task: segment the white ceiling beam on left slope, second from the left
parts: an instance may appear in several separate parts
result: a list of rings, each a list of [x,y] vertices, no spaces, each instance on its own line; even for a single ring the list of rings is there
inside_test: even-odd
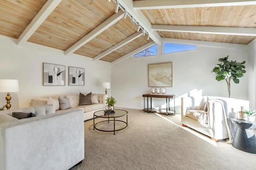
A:
[[[123,17],[124,12],[122,10],[119,10],[118,13],[115,13],[110,18],[108,18],[106,21],[101,23],[98,27],[93,29],[90,33],[85,35],[82,39],[77,41],[74,45],[69,47],[65,51],[65,55],[68,55],[70,53],[73,53],[74,51],[78,50],[80,47],[91,41],[94,37],[111,27],[114,23],[119,21]]]

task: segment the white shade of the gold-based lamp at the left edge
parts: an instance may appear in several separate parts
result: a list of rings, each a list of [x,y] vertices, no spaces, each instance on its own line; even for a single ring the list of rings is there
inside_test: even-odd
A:
[[[0,92],[19,92],[18,80],[0,80]]]

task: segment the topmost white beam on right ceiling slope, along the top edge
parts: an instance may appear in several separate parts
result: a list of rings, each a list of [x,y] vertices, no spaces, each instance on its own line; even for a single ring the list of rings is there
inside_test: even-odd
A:
[[[255,0],[142,0],[134,1],[135,10],[255,5]]]

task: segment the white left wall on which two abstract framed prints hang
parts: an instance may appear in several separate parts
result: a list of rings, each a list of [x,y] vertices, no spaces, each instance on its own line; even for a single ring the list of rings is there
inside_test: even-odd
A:
[[[20,92],[11,93],[11,109],[29,106],[32,98],[79,92],[105,93],[102,82],[110,82],[110,63],[92,62],[81,55],[64,55],[64,51],[25,43],[0,36],[0,79],[18,79]],[[66,86],[43,86],[43,63],[66,66]],[[68,66],[85,68],[85,86],[68,86]],[[108,90],[108,94],[111,89]],[[0,93],[0,107],[6,104],[6,93]]]

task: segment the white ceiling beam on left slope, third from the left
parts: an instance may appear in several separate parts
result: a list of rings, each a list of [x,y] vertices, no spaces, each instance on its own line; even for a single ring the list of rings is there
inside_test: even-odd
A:
[[[131,35],[130,37],[120,41],[119,43],[117,43],[116,45],[114,45],[113,47],[107,49],[106,51],[104,51],[103,53],[100,53],[99,55],[97,55],[96,57],[94,57],[92,59],[92,61],[95,61],[95,60],[99,60],[101,59],[102,57],[105,57],[106,55],[112,53],[113,51],[115,51],[116,49],[126,45],[127,43],[130,43],[132,40],[140,37],[142,35],[142,31],[140,30],[139,32],[136,32],[134,33],[133,35]]]

